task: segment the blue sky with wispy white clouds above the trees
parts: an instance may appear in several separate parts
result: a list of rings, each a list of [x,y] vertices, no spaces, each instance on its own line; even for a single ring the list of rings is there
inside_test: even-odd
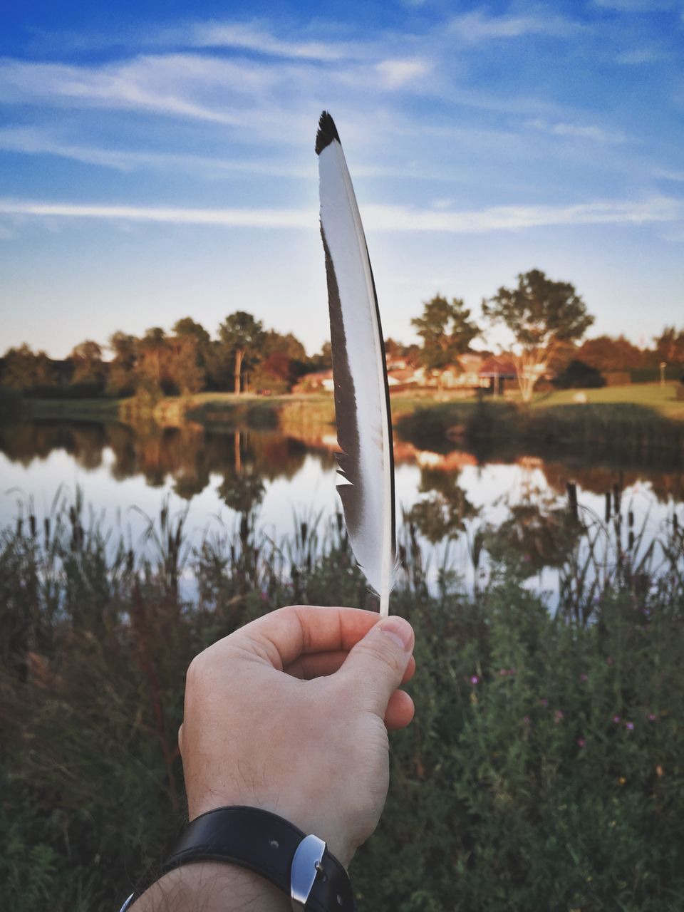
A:
[[[2,351],[238,309],[320,348],[322,109],[386,336],[532,268],[590,335],[684,326],[684,0],[0,0],[0,22]]]

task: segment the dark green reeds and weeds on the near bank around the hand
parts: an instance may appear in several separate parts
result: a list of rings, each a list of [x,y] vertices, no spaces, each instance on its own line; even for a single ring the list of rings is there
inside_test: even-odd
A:
[[[162,512],[143,560],[87,516],[66,504],[0,536],[0,881],[16,912],[109,912],[169,850],[198,650],[287,603],[373,604],[335,526],[274,545],[245,518],[191,553]],[[670,545],[670,574],[623,567],[581,625],[505,556],[477,596],[444,577],[430,597],[407,549],[393,609],[416,629],[416,720],[392,736],[386,812],[351,867],[360,909],[682,906],[679,530]]]

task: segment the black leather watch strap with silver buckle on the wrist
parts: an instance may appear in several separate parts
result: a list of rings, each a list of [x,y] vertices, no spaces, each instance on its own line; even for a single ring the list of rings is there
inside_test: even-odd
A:
[[[223,861],[254,871],[290,896],[292,862],[306,836],[277,814],[234,805],[200,814],[187,825],[161,873],[198,861]],[[353,912],[354,894],[335,855],[323,854],[306,902],[311,912]]]

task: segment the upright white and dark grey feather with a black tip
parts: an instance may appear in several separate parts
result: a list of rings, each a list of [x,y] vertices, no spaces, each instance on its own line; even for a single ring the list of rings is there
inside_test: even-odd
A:
[[[337,418],[337,484],[358,565],[389,613],[396,575],[394,456],[378,297],[335,122],[316,135]]]

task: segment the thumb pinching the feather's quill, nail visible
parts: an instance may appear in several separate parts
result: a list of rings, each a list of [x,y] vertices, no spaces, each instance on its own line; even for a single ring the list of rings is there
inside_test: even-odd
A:
[[[413,629],[403,617],[384,617],[352,648],[338,674],[382,719],[413,651]]]

